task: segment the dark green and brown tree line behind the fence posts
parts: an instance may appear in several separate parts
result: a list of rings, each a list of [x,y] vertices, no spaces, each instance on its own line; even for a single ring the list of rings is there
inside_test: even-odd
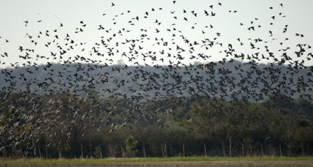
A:
[[[310,156],[312,104],[273,94],[249,102],[205,95],[134,102],[0,94],[1,157]]]

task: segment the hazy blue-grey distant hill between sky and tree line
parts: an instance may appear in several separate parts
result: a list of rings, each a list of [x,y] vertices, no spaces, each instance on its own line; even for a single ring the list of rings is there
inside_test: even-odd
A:
[[[312,67],[265,65],[239,61],[168,66],[50,64],[2,69],[4,92],[42,94],[63,90],[81,95],[95,90],[99,98],[136,97],[141,100],[195,93],[230,99],[246,96],[266,100],[271,93],[292,98],[312,95]]]

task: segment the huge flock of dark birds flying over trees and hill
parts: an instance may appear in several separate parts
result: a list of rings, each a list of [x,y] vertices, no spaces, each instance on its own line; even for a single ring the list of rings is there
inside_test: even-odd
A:
[[[172,3],[179,5],[172,1],[170,6]],[[114,7],[116,13],[118,5]],[[142,12],[136,15],[130,13],[134,9],[131,7],[121,14],[96,13],[112,21],[108,24],[97,21],[99,24],[95,25],[99,26],[90,29],[83,21],[77,22],[81,26],[73,26],[73,31],[65,29],[71,26],[65,21],[62,22],[66,27],[62,29],[58,24],[46,31],[34,27],[34,31],[27,31],[26,38],[20,37],[31,43],[17,45],[15,49],[21,53],[17,58],[1,50],[1,62],[6,58],[11,60],[7,63],[9,67],[1,68],[0,72],[0,110],[8,113],[5,118],[0,117],[1,121],[5,120],[1,122],[0,135],[6,141],[2,144],[0,139],[0,148],[15,145],[16,152],[31,156],[42,145],[52,147],[49,142],[61,145],[75,138],[84,141],[92,138],[93,133],[101,132],[101,135],[109,131],[108,135],[113,135],[125,127],[127,129],[121,132],[136,134],[137,128],[148,125],[160,127],[160,130],[182,128],[186,136],[199,131],[211,133],[214,128],[223,129],[225,134],[233,128],[252,132],[271,122],[266,118],[280,121],[280,114],[287,116],[293,110],[298,112],[310,107],[313,68],[306,63],[313,58],[309,53],[312,45],[299,42],[294,46],[296,50],[292,50],[293,47],[284,42],[289,40],[288,34],[295,34],[298,38],[293,40],[301,41],[304,33],[289,33],[289,30],[284,33],[286,37],[280,38],[279,31],[259,23],[264,17],[256,18],[251,13],[252,21],[248,21],[251,25],[246,27],[246,21],[244,24],[235,21],[229,32],[233,36],[228,37],[222,31],[212,31],[220,26],[210,23],[213,16],[220,19],[220,10],[213,11],[213,5],[204,12],[175,9],[183,10],[180,16],[170,10],[172,8],[168,8],[168,13],[161,5],[152,6],[151,12],[151,7],[138,8]],[[214,6],[215,10],[226,5],[218,2]],[[270,9],[280,12],[275,6]],[[237,13],[233,9],[226,11],[230,11],[227,15]],[[163,21],[161,15],[170,16],[169,20]],[[122,26],[121,17],[131,18],[126,21],[128,26]],[[273,23],[277,21],[275,15],[271,18]],[[195,19],[202,20],[203,24]],[[42,23],[45,21],[42,19]],[[32,22],[24,22],[29,26],[23,29],[31,27]],[[252,26],[256,23],[259,26]],[[283,24],[280,32],[286,32],[287,25]],[[62,26],[61,23],[59,27]],[[243,38],[233,28],[243,32],[248,28],[251,36]],[[87,41],[80,38],[88,33],[95,36]],[[273,46],[280,44],[278,49],[267,44],[270,41],[266,35],[271,37]],[[33,38],[36,36],[37,40]],[[222,38],[227,38],[227,45]],[[6,44],[8,40],[2,40],[3,45],[14,43],[12,40]],[[250,47],[243,49],[247,42]],[[48,54],[44,54],[46,52]],[[278,99],[284,102],[284,108],[274,108],[272,102]],[[296,100],[304,101],[298,104]],[[168,124],[170,122],[172,125]],[[179,126],[173,126],[177,122]],[[216,122],[220,124],[213,127]],[[75,129],[77,133],[73,132]],[[162,136],[165,134],[162,132]],[[37,145],[34,146],[32,139]],[[49,144],[44,144],[47,141]]]

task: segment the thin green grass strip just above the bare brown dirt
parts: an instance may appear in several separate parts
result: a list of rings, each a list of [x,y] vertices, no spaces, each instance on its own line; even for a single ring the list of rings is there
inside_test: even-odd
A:
[[[0,164],[97,164],[166,161],[313,161],[313,157],[170,157],[125,159],[0,159]]]

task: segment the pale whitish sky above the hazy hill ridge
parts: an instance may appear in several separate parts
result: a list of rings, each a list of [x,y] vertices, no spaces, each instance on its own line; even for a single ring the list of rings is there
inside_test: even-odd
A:
[[[1,68],[68,61],[175,65],[237,60],[234,54],[273,63],[283,53],[292,58],[287,63],[313,64],[307,56],[313,1],[13,0],[1,6]]]

